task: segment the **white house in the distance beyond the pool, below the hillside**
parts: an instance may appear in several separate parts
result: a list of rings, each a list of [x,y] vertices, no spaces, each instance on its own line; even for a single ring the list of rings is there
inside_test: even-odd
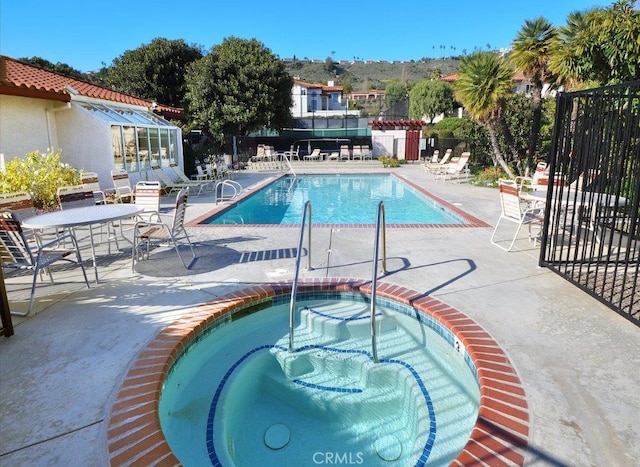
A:
[[[347,103],[343,102],[342,90],[343,87],[336,86],[333,81],[324,85],[294,79],[291,89],[293,101],[291,116],[293,118],[359,116],[358,110],[348,110]]]

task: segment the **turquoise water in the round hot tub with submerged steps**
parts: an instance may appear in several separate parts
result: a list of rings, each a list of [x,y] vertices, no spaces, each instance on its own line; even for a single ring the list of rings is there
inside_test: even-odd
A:
[[[479,389],[448,331],[381,299],[374,364],[366,297],[297,304],[294,352],[282,303],[211,329],[172,367],[160,419],[184,465],[456,458],[476,422]]]

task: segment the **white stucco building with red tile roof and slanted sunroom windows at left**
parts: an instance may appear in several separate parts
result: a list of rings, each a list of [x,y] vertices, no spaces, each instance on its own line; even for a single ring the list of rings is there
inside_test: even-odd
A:
[[[183,167],[182,132],[169,119],[180,108],[96,86],[29,63],[0,56],[0,154],[5,160],[48,148],[86,172],[104,189],[111,170],[133,182],[153,165]]]

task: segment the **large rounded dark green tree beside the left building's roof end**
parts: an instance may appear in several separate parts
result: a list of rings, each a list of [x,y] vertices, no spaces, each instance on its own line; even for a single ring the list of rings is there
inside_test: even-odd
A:
[[[293,79],[256,39],[224,39],[189,67],[186,81],[191,124],[218,141],[290,122]]]

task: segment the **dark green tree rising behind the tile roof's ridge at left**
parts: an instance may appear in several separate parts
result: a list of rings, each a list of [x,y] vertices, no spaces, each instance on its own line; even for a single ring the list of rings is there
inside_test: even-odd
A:
[[[104,76],[118,91],[162,104],[182,107],[185,70],[202,58],[202,50],[182,39],[156,38],[117,57]]]

